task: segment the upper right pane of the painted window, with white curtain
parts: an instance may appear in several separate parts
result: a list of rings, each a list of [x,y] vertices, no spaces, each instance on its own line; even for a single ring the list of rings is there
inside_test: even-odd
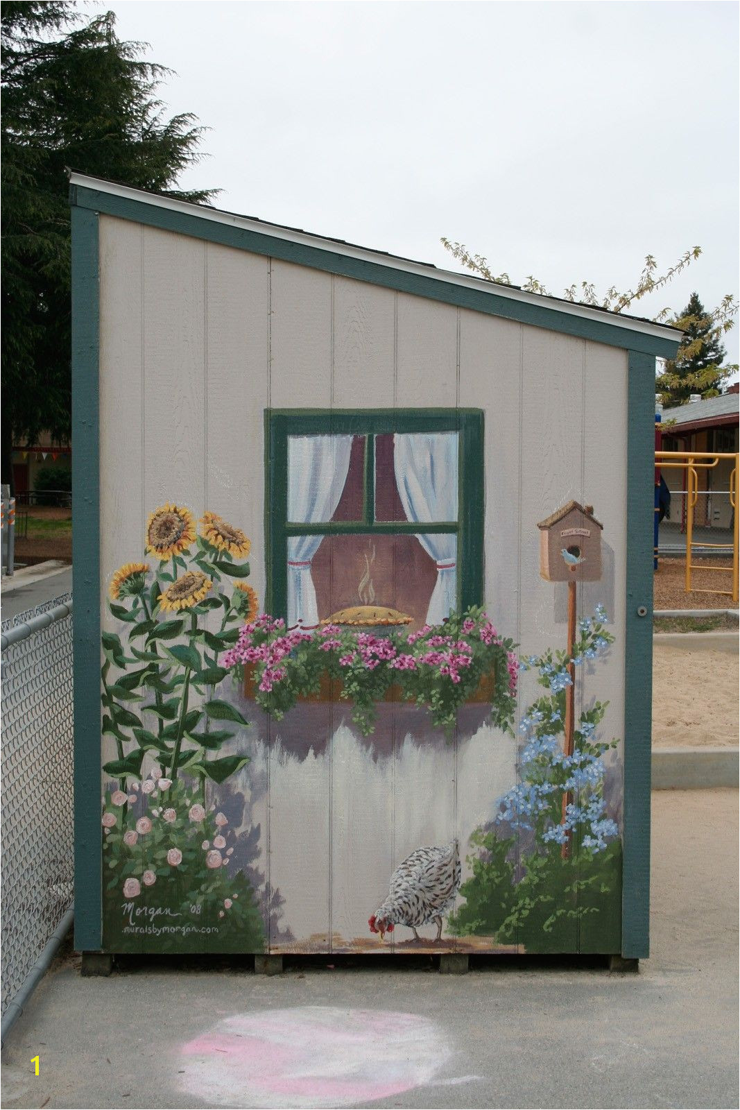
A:
[[[375,518],[457,519],[457,432],[375,437]]]

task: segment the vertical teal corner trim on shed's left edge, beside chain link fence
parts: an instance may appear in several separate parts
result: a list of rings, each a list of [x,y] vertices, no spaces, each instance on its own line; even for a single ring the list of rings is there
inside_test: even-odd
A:
[[[102,944],[98,215],[72,209],[74,947]]]

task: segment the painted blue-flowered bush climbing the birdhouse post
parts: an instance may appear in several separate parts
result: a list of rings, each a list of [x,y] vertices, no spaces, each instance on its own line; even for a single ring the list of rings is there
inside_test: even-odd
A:
[[[455,935],[494,936],[538,951],[618,950],[621,845],[604,798],[605,757],[618,741],[598,736],[608,703],[580,713],[572,751],[564,750],[569,666],[606,655],[614,643],[606,620],[598,606],[579,623],[572,655],[547,650],[520,662],[547,693],[519,723],[520,781],[470,837],[465,901],[449,918]]]

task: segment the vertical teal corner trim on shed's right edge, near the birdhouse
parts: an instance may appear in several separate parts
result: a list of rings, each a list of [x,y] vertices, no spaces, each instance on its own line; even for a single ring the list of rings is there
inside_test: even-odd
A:
[[[642,959],[649,955],[650,916],[655,359],[630,352],[628,375],[621,953]]]

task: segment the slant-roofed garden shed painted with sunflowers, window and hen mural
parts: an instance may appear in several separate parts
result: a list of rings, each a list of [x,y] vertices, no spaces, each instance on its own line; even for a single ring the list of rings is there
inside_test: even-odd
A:
[[[646,956],[679,333],[71,204],[77,947]]]

